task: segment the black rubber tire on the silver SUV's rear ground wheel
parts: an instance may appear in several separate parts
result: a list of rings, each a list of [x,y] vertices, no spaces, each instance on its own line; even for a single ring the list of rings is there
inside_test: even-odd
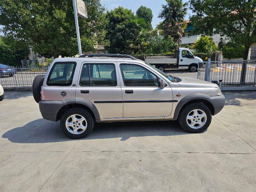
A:
[[[73,118],[71,118],[71,116],[73,115],[77,115],[76,118],[80,117],[84,117],[84,119],[86,121],[83,121],[83,123],[81,123],[82,125],[87,125],[85,130],[79,129],[79,125],[77,121],[75,121]],[[79,118],[80,119],[80,118]],[[76,120],[79,120],[76,119]],[[74,125],[74,127],[78,127],[77,129],[77,134],[72,133],[74,131],[73,127],[70,126],[68,128],[66,128],[66,121],[71,120],[70,124]],[[75,124],[75,123],[77,124]],[[94,127],[94,119],[92,118],[92,115],[90,113],[88,113],[85,109],[82,108],[71,108],[69,110],[67,110],[61,117],[60,119],[60,128],[62,130],[62,132],[68,136],[69,138],[72,139],[82,139],[84,137],[86,137],[88,134],[90,134],[90,132],[92,132],[92,129]],[[68,130],[69,129],[69,130]],[[79,132],[81,132],[79,134]]]

